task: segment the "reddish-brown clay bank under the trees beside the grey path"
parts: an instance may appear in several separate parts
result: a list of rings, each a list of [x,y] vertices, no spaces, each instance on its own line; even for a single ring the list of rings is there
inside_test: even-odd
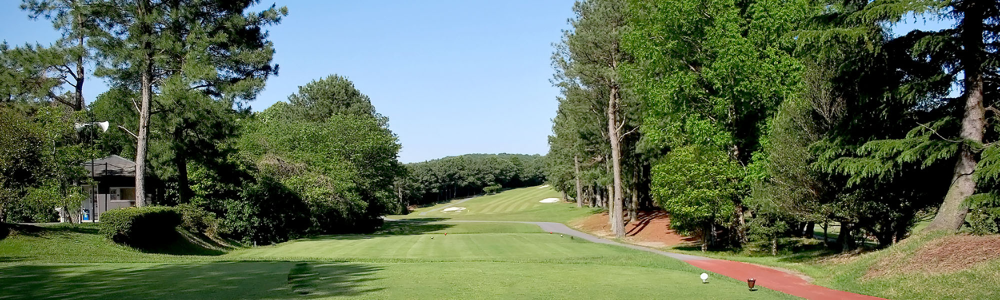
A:
[[[628,214],[625,215],[628,218]],[[610,237],[611,224],[608,213],[594,214],[573,223],[573,227],[594,235]],[[671,247],[696,242],[696,238],[683,236],[670,229],[670,215],[663,211],[641,211],[639,221],[625,226],[625,240],[647,247]]]

